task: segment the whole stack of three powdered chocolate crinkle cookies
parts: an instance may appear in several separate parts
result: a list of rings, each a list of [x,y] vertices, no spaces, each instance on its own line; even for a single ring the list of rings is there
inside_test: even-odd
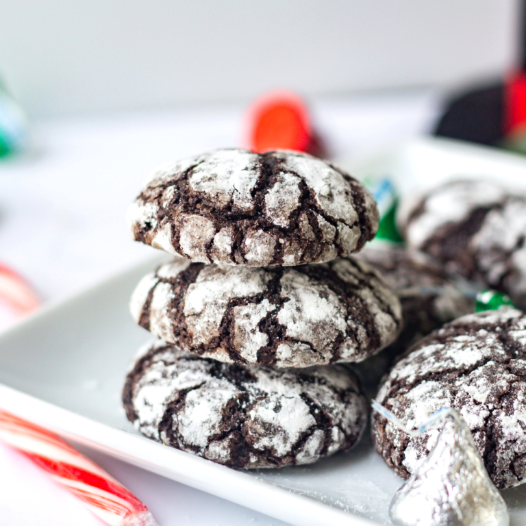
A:
[[[130,421],[238,468],[308,464],[358,441],[350,368],[395,340],[401,307],[366,262],[378,212],[355,179],[291,151],[206,153],[153,175],[134,238],[176,256],[132,297],[159,339],[127,377]]]

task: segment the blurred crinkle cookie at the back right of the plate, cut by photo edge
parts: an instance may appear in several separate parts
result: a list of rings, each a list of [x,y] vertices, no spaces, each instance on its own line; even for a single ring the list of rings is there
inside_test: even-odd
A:
[[[408,245],[526,308],[526,197],[486,180],[451,181],[403,205]]]

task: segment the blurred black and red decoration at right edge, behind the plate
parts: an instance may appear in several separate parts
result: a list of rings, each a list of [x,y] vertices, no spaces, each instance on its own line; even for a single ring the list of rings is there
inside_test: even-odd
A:
[[[521,16],[521,68],[499,82],[474,86],[453,97],[435,135],[516,150],[522,149],[514,147],[517,141],[526,144],[526,0]]]

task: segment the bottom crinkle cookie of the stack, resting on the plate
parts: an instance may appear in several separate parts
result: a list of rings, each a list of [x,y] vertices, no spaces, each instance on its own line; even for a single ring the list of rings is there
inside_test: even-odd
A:
[[[310,464],[349,449],[367,420],[347,367],[223,364],[161,340],[128,374],[123,403],[142,434],[244,469]]]

